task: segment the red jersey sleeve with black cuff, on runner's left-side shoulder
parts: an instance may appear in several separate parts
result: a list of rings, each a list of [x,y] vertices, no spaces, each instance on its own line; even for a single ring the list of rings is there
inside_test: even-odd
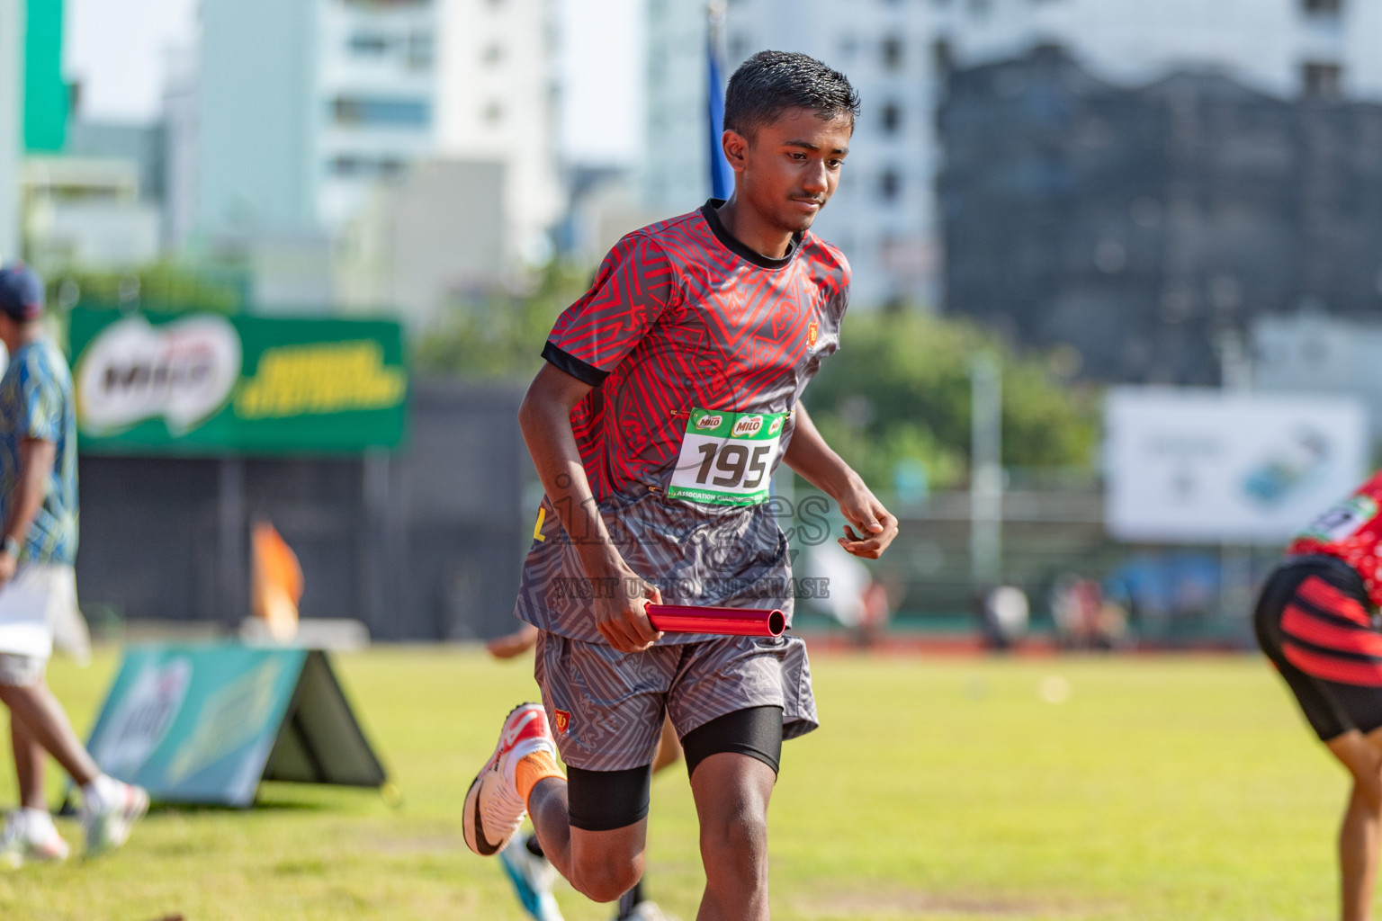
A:
[[[626,236],[609,250],[590,290],[557,318],[542,356],[600,387],[674,295],[676,272],[662,247],[641,233]]]

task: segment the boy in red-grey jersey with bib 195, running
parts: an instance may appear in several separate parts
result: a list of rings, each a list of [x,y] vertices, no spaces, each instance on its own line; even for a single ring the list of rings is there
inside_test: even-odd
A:
[[[662,637],[644,606],[668,595],[791,612],[788,543],[764,504],[779,460],[839,503],[850,552],[876,558],[897,534],[800,405],[849,301],[849,264],[808,229],[857,112],[849,80],[821,62],[749,58],[726,94],[731,199],[626,236],[557,320],[520,411],[546,498],[517,613],[542,631],[546,710],[509,715],[466,795],[477,853],[528,812],[578,891],[619,898],[643,874],[666,711],[701,823],[698,918],[768,917],[781,744],[817,725],[804,645]]]

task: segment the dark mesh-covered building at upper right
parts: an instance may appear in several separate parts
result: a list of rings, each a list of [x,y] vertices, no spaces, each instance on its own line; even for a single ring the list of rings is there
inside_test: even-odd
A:
[[[1255,316],[1382,305],[1382,106],[1038,48],[955,70],[940,126],[945,309],[1086,376],[1215,384]]]

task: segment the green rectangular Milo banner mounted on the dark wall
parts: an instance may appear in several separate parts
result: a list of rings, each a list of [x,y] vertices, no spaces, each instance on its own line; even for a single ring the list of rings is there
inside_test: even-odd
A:
[[[83,450],[347,453],[404,438],[390,320],[76,308],[69,336]]]

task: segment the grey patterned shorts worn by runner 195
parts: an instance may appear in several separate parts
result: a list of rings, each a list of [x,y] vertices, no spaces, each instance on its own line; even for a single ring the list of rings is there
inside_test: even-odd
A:
[[[782,737],[820,724],[800,637],[721,637],[623,653],[543,631],[536,678],[561,759],[585,770],[652,762],[663,711],[677,736],[748,707],[782,707]]]

